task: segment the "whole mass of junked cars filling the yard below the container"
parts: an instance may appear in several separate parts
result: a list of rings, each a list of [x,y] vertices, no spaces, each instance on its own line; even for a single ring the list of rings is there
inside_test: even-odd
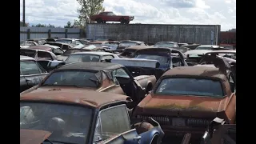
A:
[[[234,129],[235,50],[198,46],[210,50],[188,64],[180,47],[114,50],[94,44],[100,42],[67,50],[45,43],[20,48],[22,138],[36,133],[53,143],[161,143],[182,136],[186,144],[221,142],[216,130]],[[210,129],[216,123],[221,128]]]

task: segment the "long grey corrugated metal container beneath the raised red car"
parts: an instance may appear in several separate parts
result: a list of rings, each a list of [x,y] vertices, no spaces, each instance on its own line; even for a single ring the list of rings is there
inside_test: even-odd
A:
[[[86,38],[218,44],[220,25],[87,24]]]

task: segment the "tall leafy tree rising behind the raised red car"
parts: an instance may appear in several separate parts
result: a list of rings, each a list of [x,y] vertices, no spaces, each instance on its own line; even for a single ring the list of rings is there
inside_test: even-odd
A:
[[[79,22],[84,25],[84,23],[90,23],[90,16],[98,14],[104,11],[103,2],[104,0],[77,0],[81,8],[78,8]]]

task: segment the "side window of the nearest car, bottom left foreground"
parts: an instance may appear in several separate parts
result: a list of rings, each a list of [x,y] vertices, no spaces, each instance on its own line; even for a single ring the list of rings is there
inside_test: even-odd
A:
[[[126,110],[126,105],[113,106],[102,110],[99,114],[98,126],[96,126],[94,139],[113,137],[114,135],[130,130],[130,118]],[[98,129],[99,125],[102,128]],[[98,137],[96,137],[97,133]]]

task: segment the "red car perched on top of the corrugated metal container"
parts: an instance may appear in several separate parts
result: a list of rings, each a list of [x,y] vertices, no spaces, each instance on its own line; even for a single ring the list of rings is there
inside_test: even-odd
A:
[[[121,24],[129,24],[130,21],[134,20],[134,16],[115,15],[112,11],[104,11],[90,16],[90,20],[96,21],[97,23],[121,22]]]

